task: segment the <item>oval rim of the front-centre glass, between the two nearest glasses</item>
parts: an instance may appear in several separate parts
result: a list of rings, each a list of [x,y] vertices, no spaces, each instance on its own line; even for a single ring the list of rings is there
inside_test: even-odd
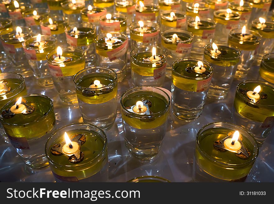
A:
[[[162,91],[163,93],[166,94],[166,96],[168,97],[168,104],[167,104],[167,106],[165,107],[165,109],[163,109],[163,110],[160,111],[160,112],[153,113],[153,114],[150,114],[150,115],[140,115],[140,114],[137,114],[137,113],[134,113],[134,112],[130,112],[130,111],[128,111],[128,110],[125,108],[125,106],[124,106],[124,104],[123,104],[123,102],[122,102],[122,98],[124,97],[124,95],[125,95],[126,93],[132,91],[133,89],[144,88],[144,87],[147,87],[147,88],[156,88],[156,89],[158,89],[158,90],[160,90],[160,91]],[[141,91],[141,90],[140,90],[140,91]],[[151,91],[151,92],[153,92],[153,91]],[[126,90],[126,91],[121,95],[121,97],[120,97],[120,105],[122,106],[122,109],[123,109],[125,112],[127,112],[128,114],[134,115],[136,118],[143,118],[143,119],[145,119],[145,118],[151,117],[151,116],[158,116],[158,115],[161,116],[161,115],[163,115],[164,113],[166,113],[166,112],[168,111],[169,107],[170,107],[170,100],[171,100],[171,98],[169,97],[168,93],[166,93],[164,90],[162,90],[162,89],[160,89],[160,88],[158,88],[158,87],[152,87],[152,86],[137,86],[137,87],[130,88],[130,89]]]

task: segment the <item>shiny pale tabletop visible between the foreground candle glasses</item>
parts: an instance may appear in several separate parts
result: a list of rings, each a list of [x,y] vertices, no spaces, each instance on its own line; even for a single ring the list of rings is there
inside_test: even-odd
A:
[[[252,67],[247,79],[257,79],[258,67]],[[126,182],[132,178],[156,175],[172,182],[191,182],[195,138],[198,130],[211,122],[230,122],[236,85],[243,80],[234,80],[228,96],[223,100],[207,98],[201,116],[192,122],[182,122],[170,111],[168,129],[161,150],[151,161],[140,161],[132,157],[125,147],[123,127],[118,101],[114,126],[106,131],[109,154],[109,181]],[[66,105],[59,99],[54,86],[43,88],[35,83],[34,77],[26,78],[28,93],[49,96],[54,103],[57,127],[82,122],[78,104]],[[118,99],[132,87],[130,71],[118,85]],[[164,88],[170,90],[171,80],[166,78]],[[238,124],[240,125],[240,124]],[[246,182],[274,182],[274,137],[273,132],[260,148],[258,158]],[[0,181],[1,182],[54,182],[50,168],[31,171],[26,168],[15,149],[0,140]]]

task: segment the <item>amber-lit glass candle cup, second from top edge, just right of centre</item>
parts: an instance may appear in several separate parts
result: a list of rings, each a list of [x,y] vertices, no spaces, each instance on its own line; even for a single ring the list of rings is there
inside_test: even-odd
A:
[[[175,17],[171,16],[171,12],[174,12]],[[178,10],[168,10],[161,12],[161,30],[165,31],[169,28],[181,28],[186,30],[187,17],[186,13]]]

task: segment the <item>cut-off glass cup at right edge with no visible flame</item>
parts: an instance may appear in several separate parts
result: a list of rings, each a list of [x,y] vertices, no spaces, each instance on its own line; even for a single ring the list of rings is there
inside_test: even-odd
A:
[[[259,79],[274,84],[274,53],[262,57]]]

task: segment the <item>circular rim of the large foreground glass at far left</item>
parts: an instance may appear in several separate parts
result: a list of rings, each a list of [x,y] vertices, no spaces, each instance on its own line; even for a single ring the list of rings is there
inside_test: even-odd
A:
[[[32,122],[25,123],[25,124],[21,124],[21,125],[10,124],[10,123],[4,122],[4,121],[3,121],[3,118],[2,118],[2,112],[3,112],[3,110],[4,110],[4,107],[7,106],[8,104],[10,104],[10,103],[13,102],[13,101],[17,101],[17,98],[14,98],[14,99],[12,99],[11,101],[7,102],[7,103],[1,108],[1,110],[0,110],[0,112],[1,112],[1,114],[0,114],[1,123],[2,123],[2,124],[5,124],[5,125],[9,125],[9,126],[10,126],[10,125],[12,125],[12,126],[26,126],[26,125],[31,125],[31,124],[33,124],[33,123],[36,123],[36,122],[39,122],[39,121],[44,120],[44,118],[48,116],[48,114],[50,113],[50,111],[53,111],[53,109],[54,109],[54,107],[53,107],[53,102],[52,102],[52,100],[50,99],[50,97],[47,97],[47,96],[42,95],[42,94],[34,94],[34,93],[27,94],[27,95],[24,95],[24,96],[21,96],[21,97],[24,98],[24,97],[31,97],[31,96],[43,97],[43,98],[45,98],[46,100],[48,100],[48,101],[50,102],[50,109],[46,112],[46,114],[44,114],[44,116],[42,116],[42,117],[40,117],[39,119],[36,119],[36,120],[34,120],[34,121],[32,121]],[[14,103],[14,104],[15,104],[15,103]],[[54,117],[55,117],[55,115],[54,115]]]

